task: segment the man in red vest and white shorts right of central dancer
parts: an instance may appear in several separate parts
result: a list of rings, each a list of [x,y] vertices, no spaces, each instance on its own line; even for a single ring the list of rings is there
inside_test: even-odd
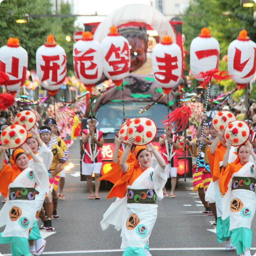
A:
[[[172,125],[164,127],[165,134],[159,137],[160,150],[162,157],[166,163],[167,177],[171,177],[171,194],[170,197],[175,197],[174,190],[176,186],[178,157],[175,155],[176,149],[180,148],[180,139],[172,133]],[[164,197],[168,196],[166,189],[163,189]]]

